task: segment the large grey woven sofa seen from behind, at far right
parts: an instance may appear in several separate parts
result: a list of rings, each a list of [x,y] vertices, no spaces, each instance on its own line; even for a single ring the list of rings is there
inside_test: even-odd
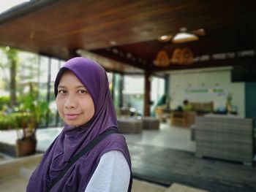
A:
[[[197,157],[219,158],[252,165],[253,119],[206,115],[195,120]]]

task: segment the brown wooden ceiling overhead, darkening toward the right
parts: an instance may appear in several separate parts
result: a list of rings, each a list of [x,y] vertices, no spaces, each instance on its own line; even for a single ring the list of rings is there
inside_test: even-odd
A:
[[[116,72],[135,72],[134,67],[182,69],[154,67],[159,50],[172,53],[177,47],[189,47],[195,56],[255,50],[255,5],[249,0],[31,1],[0,16],[0,45],[64,60],[86,50],[130,65],[108,64]],[[206,35],[180,45],[157,41],[182,27],[204,28]],[[133,57],[117,56],[115,50]]]

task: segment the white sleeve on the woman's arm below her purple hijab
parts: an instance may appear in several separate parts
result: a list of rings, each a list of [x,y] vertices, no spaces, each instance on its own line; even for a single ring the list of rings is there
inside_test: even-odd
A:
[[[111,150],[100,158],[85,192],[127,192],[130,174],[123,153]]]

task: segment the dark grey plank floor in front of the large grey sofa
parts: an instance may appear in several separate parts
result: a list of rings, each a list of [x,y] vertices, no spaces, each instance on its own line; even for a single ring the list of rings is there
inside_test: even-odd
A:
[[[196,158],[195,153],[129,143],[135,177],[162,185],[181,183],[207,191],[256,191],[256,167],[215,159]]]

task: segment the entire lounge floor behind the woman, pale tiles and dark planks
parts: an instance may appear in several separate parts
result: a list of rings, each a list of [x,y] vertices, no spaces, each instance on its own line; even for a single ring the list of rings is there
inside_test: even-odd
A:
[[[37,131],[37,150],[45,151],[61,128]],[[14,144],[15,131],[1,131],[0,142]],[[162,124],[157,131],[125,135],[135,178],[165,187],[181,183],[208,191],[256,191],[256,168],[195,157],[189,128]],[[161,191],[161,189],[160,189]]]

